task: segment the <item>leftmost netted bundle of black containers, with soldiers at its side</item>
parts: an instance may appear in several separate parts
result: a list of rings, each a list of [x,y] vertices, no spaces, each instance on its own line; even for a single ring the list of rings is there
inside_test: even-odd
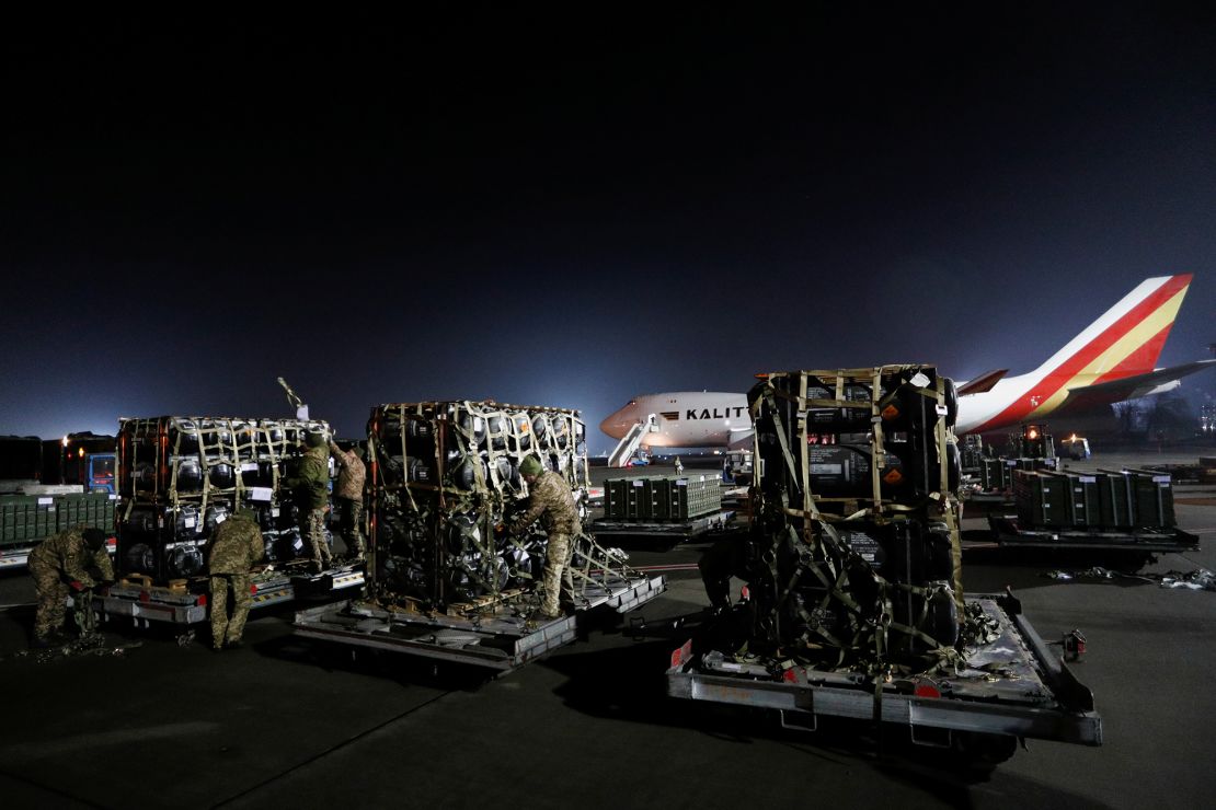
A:
[[[295,472],[309,434],[328,437],[330,426],[298,419],[123,419],[119,573],[162,583],[203,576],[208,539],[241,508],[258,515],[266,561],[305,566],[311,554],[302,526],[308,506],[297,503],[283,480]]]

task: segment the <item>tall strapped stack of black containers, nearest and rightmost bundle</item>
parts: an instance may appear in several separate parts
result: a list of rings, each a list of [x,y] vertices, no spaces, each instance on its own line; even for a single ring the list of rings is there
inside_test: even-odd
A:
[[[788,372],[767,375],[749,404],[748,648],[829,667],[952,655],[953,384],[929,366]]]

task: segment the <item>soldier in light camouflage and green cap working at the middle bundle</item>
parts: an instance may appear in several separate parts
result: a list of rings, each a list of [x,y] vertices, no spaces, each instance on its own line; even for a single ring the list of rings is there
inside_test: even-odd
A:
[[[545,557],[545,597],[533,619],[553,619],[562,616],[561,607],[574,607],[574,577],[570,574],[570,557],[574,537],[581,531],[579,511],[574,506],[570,485],[557,472],[546,470],[535,455],[527,455],[519,464],[519,474],[528,482],[530,504],[511,526],[512,534],[519,534],[540,517],[548,534]],[[561,601],[559,601],[561,597]]]

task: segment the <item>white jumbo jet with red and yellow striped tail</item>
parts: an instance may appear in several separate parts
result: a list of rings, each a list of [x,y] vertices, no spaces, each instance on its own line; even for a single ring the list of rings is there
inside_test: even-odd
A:
[[[1035,370],[1006,376],[1002,368],[959,383],[955,431],[981,434],[1162,393],[1211,368],[1216,359],[1154,368],[1189,285],[1189,273],[1148,278]],[[623,443],[632,434],[635,448],[742,447],[751,418],[743,393],[675,391],[634,397],[599,430]]]

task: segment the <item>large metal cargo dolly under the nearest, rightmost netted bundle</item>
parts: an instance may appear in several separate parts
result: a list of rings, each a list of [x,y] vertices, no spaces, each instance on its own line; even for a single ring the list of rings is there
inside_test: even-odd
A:
[[[996,741],[1001,758],[1026,737],[1100,746],[1102,719],[1092,692],[1035,633],[1020,602],[1012,594],[967,601],[979,602],[997,621],[1000,636],[968,650],[970,669],[963,676],[895,678],[876,699],[874,681],[861,674],[734,663],[721,652],[694,655],[689,641],[671,656],[668,695],[776,709],[792,729],[814,730],[818,716],[880,719],[907,727],[912,741],[924,744],[957,749],[968,741]],[[981,669],[986,664],[998,670]]]

